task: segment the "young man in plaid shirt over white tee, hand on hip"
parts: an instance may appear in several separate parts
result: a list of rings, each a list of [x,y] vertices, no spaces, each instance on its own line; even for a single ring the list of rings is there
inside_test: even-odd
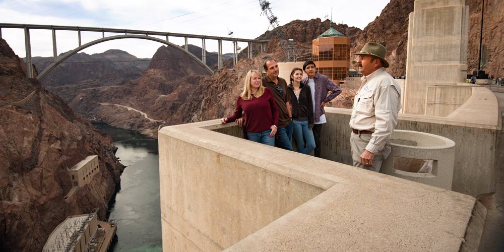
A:
[[[301,82],[308,85],[311,90],[311,99],[313,101],[313,119],[315,125],[313,126],[313,137],[315,138],[315,156],[320,157],[321,143],[320,137],[322,132],[322,124],[326,123],[326,111],[324,106],[330,100],[336,98],[342,91],[331,79],[325,75],[317,72],[315,63],[307,60],[303,64],[303,71],[308,77],[304,77]],[[327,95],[331,91],[329,95]]]

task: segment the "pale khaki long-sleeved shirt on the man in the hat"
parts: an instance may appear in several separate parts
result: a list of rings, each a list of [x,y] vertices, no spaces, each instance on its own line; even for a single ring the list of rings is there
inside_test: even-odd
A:
[[[355,95],[350,128],[374,131],[366,150],[380,152],[389,142],[401,110],[401,87],[383,68],[361,78]]]

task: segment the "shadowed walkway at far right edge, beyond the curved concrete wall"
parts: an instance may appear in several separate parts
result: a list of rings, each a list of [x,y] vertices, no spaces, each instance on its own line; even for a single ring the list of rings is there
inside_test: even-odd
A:
[[[499,101],[500,110],[504,111],[504,93],[492,90]],[[495,92],[497,91],[497,92]],[[502,136],[504,137],[504,136]],[[479,246],[480,252],[504,251],[504,138],[500,139],[497,190],[495,194],[481,198],[480,202],[488,209],[485,227]]]

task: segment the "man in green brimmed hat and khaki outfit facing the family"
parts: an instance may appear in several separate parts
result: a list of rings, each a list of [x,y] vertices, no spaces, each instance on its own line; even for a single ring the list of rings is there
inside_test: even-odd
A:
[[[362,84],[355,95],[350,118],[350,146],[353,165],[380,171],[390,154],[390,138],[401,109],[401,88],[385,72],[387,49],[378,43],[367,43],[357,61]]]

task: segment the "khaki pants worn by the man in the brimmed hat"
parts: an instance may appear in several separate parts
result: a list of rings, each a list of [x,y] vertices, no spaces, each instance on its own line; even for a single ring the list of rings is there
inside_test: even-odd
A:
[[[350,136],[350,147],[352,148],[353,166],[379,172],[383,161],[390,155],[390,143],[387,143],[382,151],[376,153],[372,166],[364,166],[360,163],[360,154],[366,150],[366,146],[371,140],[371,134],[355,134]]]

